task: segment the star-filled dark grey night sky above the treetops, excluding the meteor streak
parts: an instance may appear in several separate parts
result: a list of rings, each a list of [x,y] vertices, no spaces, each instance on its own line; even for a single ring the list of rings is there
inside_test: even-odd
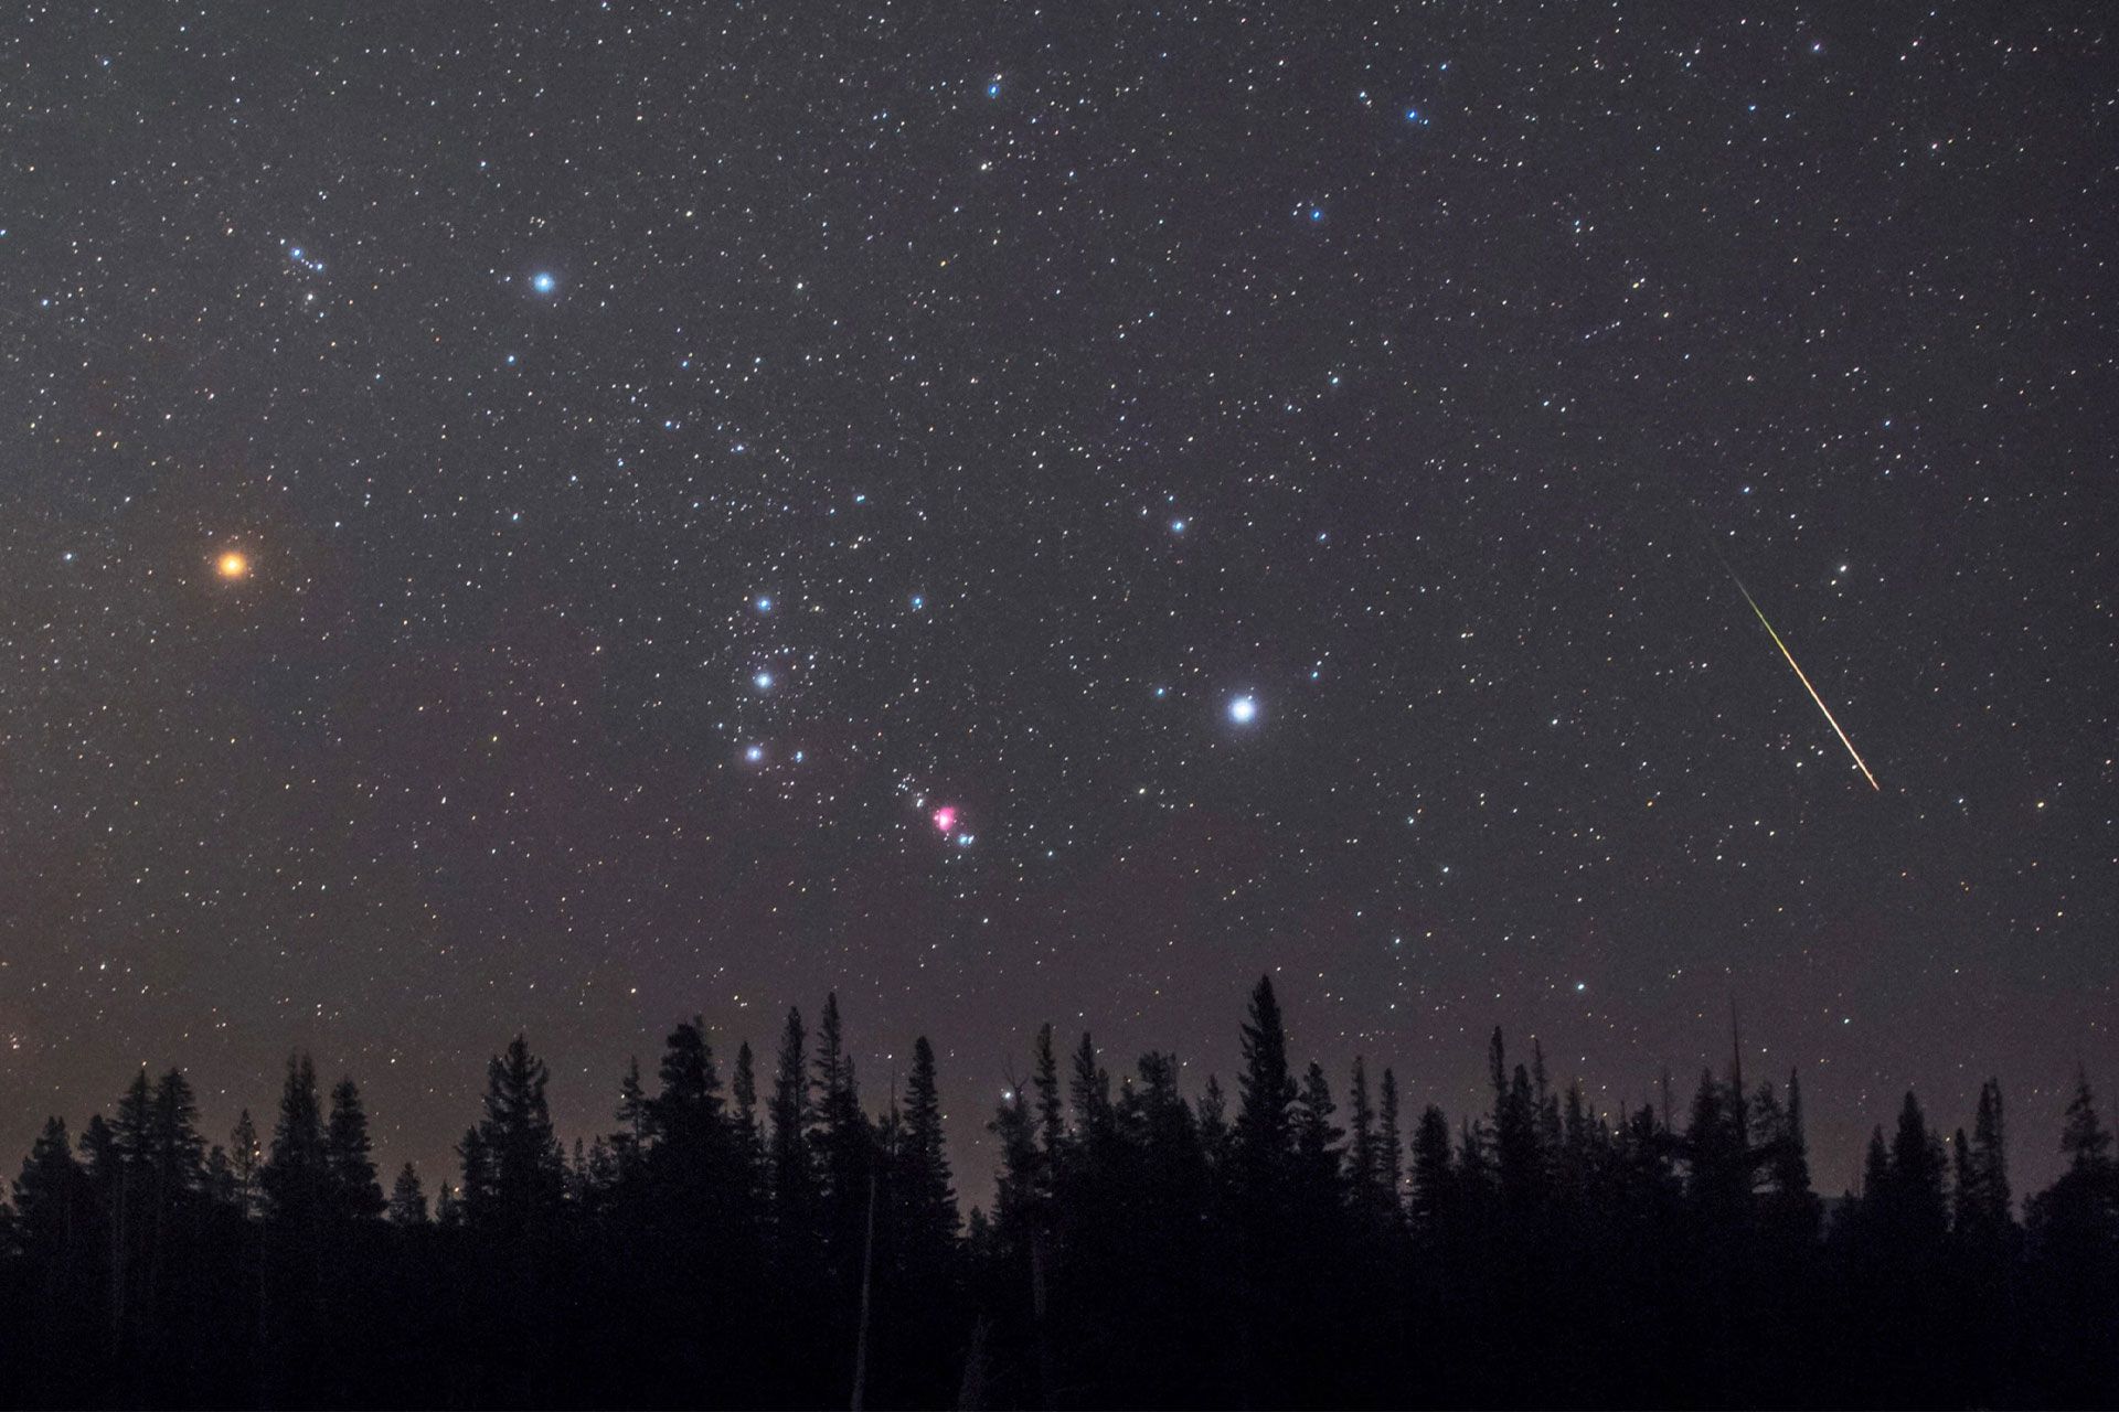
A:
[[[1854,25],[1854,28],[1848,28]],[[0,23],[0,1160],[701,1012],[2119,1084],[2098,6]],[[231,557],[233,559],[227,559]],[[1746,605],[1771,618],[1880,790]],[[388,1169],[388,1166],[386,1166]]]

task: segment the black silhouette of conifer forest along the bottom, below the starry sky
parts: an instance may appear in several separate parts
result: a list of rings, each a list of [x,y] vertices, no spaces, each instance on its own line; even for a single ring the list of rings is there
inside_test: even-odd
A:
[[[2000,1086],[1913,1094],[1820,1202],[1795,1075],[1591,1114],[1490,1046],[1488,1111],[1297,1069],[1271,984],[1233,1099],[1040,1031],[958,1215],[934,1050],[882,1116],[839,1008],[727,1084],[704,1025],[568,1156],[545,1065],[487,1071],[434,1209],[360,1090],[288,1063],[225,1145],[176,1069],[53,1118],[0,1226],[8,1404],[2053,1406],[2119,1401],[2119,1166],[2077,1084],[2064,1175],[2009,1192]]]

